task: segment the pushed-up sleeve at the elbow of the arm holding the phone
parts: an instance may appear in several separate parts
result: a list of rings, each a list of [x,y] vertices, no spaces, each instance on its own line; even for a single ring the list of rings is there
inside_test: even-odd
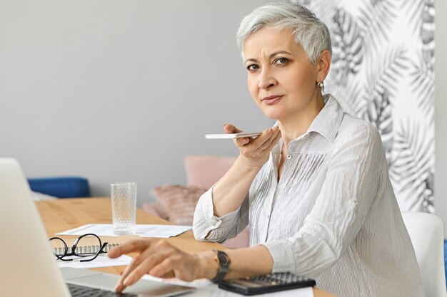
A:
[[[247,226],[248,195],[241,207],[223,217],[216,217],[213,208],[213,187],[202,194],[196,205],[193,232],[196,240],[199,241],[224,242],[236,236]]]

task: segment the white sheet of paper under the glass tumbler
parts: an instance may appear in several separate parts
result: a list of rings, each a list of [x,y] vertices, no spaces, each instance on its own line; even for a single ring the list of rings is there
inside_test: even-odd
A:
[[[191,226],[179,225],[136,225],[135,235],[141,237],[168,238],[177,236],[191,229]],[[87,224],[74,229],[62,231],[57,235],[82,235],[94,233],[98,236],[118,236],[114,234],[111,224]]]

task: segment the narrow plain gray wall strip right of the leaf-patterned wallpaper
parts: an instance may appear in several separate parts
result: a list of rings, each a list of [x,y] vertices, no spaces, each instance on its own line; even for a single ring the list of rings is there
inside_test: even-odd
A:
[[[447,224],[447,1],[436,1],[436,64],[435,64],[435,125],[436,125],[436,214]],[[444,228],[447,238],[447,228]]]

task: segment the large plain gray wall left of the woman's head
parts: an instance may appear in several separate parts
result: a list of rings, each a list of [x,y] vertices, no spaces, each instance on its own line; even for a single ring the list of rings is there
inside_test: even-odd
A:
[[[265,2],[0,0],[0,156],[29,177],[87,177],[96,196],[134,181],[141,202],[186,183],[186,155],[236,155],[204,135],[273,123],[235,40]]]

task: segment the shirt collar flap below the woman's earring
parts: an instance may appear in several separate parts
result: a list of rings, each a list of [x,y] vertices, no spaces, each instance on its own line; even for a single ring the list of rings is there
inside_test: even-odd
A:
[[[343,118],[343,108],[331,94],[323,95],[323,100],[326,104],[316,118],[313,119],[305,134],[318,132],[326,137],[327,140],[333,142]]]

